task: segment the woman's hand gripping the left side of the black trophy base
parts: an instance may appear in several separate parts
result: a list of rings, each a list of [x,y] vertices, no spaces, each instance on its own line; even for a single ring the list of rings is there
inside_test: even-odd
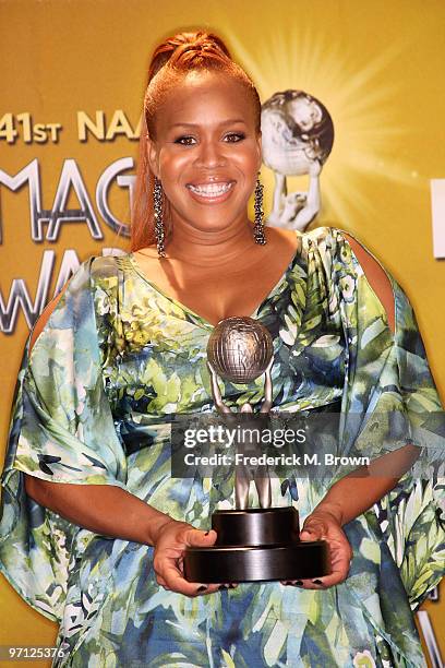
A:
[[[188,582],[183,575],[183,552],[187,547],[212,547],[216,532],[202,532],[185,522],[169,520],[157,532],[153,568],[157,583],[165,589],[185,596],[213,594],[219,588],[237,585],[200,584]]]

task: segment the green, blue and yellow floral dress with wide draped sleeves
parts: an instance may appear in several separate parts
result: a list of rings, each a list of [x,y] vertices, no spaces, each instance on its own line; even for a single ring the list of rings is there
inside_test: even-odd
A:
[[[300,249],[252,314],[274,341],[274,409],[337,404],[338,454],[372,458],[413,442],[428,453],[428,475],[408,472],[345,526],[353,559],[338,586],[246,583],[196,598],[164,589],[153,548],[75,526],[24,490],[23,472],[115,485],[202,528],[232,503],[230,479],[171,477],[172,416],[215,410],[206,368],[213,326],[148,282],[133,255],[91,259],[25,351],[1,478],[1,572],[60,623],[55,666],[425,665],[412,610],[443,574],[445,451],[416,319],[392,279],[392,334],[341,230],[296,234]],[[221,392],[230,407],[255,404],[263,379],[225,382]],[[380,438],[382,416],[395,414],[406,427]],[[294,504],[304,518],[340,474],[274,479],[273,504]]]

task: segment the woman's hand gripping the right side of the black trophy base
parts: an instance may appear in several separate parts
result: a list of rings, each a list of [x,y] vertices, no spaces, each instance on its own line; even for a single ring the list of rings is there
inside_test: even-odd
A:
[[[348,542],[341,524],[334,512],[315,510],[305,518],[300,540],[326,540],[330,552],[330,575],[311,580],[291,581],[305,589],[324,589],[344,582],[349,573],[352,549]],[[301,584],[300,584],[301,583]]]

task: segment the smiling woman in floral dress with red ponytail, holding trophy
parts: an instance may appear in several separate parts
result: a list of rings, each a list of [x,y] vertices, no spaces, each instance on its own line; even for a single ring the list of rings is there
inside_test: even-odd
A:
[[[411,422],[417,402],[438,409],[409,303],[340,230],[265,234],[260,100],[219,38],[166,40],[148,81],[133,252],[84,263],[25,354],[2,572],[60,622],[56,666],[422,665],[409,600],[441,577],[441,489],[409,473],[398,482],[420,450],[408,431],[383,442],[368,429],[378,410]],[[305,516],[303,540],[328,540],[324,577],[236,588],[183,577],[184,548],[214,544],[209,516],[233,481],[171,478],[171,416],[212,410],[206,344],[230,315],[273,335],[275,407],[340,403],[338,453],[375,460],[375,475],[290,475],[273,489],[273,505]],[[229,406],[261,397],[261,378],[225,383]]]

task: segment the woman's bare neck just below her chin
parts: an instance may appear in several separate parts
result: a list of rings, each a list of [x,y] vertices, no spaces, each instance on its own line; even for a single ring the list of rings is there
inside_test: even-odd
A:
[[[224,229],[212,231],[196,229],[181,222],[173,225],[172,234],[166,243],[166,252],[167,258],[172,260],[215,266],[245,257],[254,246],[253,224],[246,217]]]

